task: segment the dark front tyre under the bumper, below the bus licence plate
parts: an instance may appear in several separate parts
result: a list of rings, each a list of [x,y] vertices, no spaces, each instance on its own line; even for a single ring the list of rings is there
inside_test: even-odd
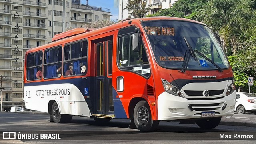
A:
[[[203,129],[215,128],[219,125],[221,117],[196,120],[196,124]]]

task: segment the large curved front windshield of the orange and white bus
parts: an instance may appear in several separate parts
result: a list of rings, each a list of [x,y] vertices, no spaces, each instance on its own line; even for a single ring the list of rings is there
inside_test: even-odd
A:
[[[142,23],[156,62],[169,69],[216,70],[228,68],[228,60],[211,30],[182,21]],[[189,54],[187,54],[189,53]]]

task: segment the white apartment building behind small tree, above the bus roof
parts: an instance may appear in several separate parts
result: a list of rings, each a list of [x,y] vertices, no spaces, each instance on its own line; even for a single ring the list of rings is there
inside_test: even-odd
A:
[[[141,2],[147,2],[147,5],[150,6],[150,11],[148,12],[148,14],[154,14],[160,9],[170,8],[175,1],[177,0],[141,0]],[[131,12],[125,9],[127,4],[128,0],[119,0],[118,20],[131,18]]]

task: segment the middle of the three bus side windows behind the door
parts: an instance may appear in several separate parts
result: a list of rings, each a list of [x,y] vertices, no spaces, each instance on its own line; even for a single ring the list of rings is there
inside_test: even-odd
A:
[[[61,76],[62,47],[53,48],[44,52],[44,78]]]

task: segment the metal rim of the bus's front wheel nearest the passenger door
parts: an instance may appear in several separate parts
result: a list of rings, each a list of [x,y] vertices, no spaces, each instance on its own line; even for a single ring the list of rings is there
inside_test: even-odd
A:
[[[138,109],[137,111],[137,122],[141,126],[146,126],[149,121],[149,112],[148,109],[144,106]]]

